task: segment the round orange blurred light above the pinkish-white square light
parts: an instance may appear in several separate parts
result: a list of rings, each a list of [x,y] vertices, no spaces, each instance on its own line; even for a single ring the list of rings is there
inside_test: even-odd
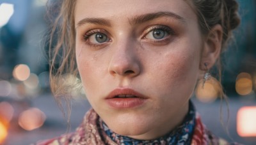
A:
[[[236,92],[239,95],[249,95],[252,93],[252,76],[246,72],[242,72],[236,79]]]

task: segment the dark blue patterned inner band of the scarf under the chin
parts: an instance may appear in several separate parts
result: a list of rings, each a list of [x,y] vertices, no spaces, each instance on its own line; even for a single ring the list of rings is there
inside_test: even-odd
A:
[[[172,132],[154,140],[137,140],[131,137],[122,136],[116,134],[100,119],[100,130],[102,134],[107,134],[110,139],[116,144],[191,144],[191,139],[193,136],[193,131],[195,128],[195,107],[191,102],[189,102],[189,112],[186,115],[183,123],[176,127]]]

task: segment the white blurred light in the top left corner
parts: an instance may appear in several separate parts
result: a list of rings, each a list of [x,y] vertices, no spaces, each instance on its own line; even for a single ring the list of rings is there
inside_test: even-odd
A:
[[[0,27],[8,23],[14,13],[13,4],[2,3],[0,4]]]

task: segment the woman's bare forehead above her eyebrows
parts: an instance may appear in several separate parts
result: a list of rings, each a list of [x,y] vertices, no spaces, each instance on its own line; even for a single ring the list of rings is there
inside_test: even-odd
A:
[[[170,11],[188,23],[196,20],[196,14],[186,0],[77,0],[75,23],[84,18],[129,20],[159,11]]]

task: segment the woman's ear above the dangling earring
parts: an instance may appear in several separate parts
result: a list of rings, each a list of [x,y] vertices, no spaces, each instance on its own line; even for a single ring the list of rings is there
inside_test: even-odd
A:
[[[205,37],[200,61],[200,69],[202,71],[214,66],[216,60],[220,56],[222,35],[222,27],[220,24],[217,24],[212,27],[209,34]],[[205,64],[207,64],[207,68],[205,68]]]

